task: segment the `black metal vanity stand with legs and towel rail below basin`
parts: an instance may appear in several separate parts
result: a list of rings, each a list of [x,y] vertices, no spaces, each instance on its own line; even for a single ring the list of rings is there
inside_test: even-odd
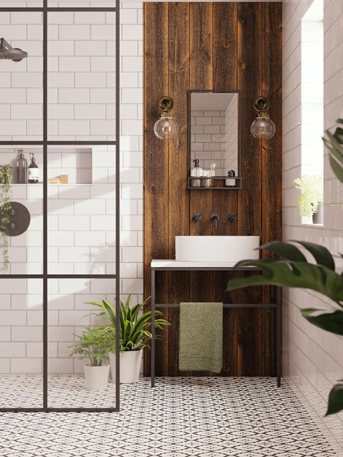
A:
[[[151,387],[155,386],[155,313],[156,308],[179,308],[179,303],[155,303],[156,271],[232,271],[233,267],[218,266],[154,266],[151,262]],[[260,271],[257,267],[236,268],[235,271]],[[224,303],[224,308],[270,308],[271,310],[271,376],[275,376],[275,310],[277,311],[277,387],[281,386],[281,287],[271,286],[271,303]]]

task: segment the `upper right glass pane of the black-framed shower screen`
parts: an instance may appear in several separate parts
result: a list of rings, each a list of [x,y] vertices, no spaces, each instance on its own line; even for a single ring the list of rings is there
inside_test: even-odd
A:
[[[114,141],[114,13],[50,12],[48,24],[48,139]]]

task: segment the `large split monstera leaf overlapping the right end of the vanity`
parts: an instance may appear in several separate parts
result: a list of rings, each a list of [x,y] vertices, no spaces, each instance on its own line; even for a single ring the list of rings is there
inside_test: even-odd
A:
[[[232,278],[227,283],[227,291],[231,291],[234,288],[267,284],[309,288],[331,298],[332,301],[343,307],[343,277],[334,271],[334,260],[327,248],[306,241],[296,242],[312,253],[312,256],[317,261],[316,264],[309,263],[294,244],[285,241],[272,241],[272,243],[260,246],[259,249],[266,249],[271,253],[277,254],[279,258],[238,262],[234,269],[242,266],[252,266],[259,268],[264,274],[245,278]],[[308,318],[308,320],[309,317],[312,318],[309,315],[304,317]]]

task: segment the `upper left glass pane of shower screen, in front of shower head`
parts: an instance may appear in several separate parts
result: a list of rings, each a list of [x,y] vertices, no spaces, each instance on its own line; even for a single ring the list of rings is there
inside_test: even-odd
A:
[[[43,139],[42,19],[42,13],[36,11],[0,13],[4,38],[4,51],[0,51],[1,141]]]

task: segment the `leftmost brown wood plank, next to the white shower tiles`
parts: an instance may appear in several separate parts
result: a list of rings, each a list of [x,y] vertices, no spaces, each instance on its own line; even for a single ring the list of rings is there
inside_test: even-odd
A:
[[[150,295],[150,262],[152,258],[168,258],[168,143],[154,134],[159,118],[157,102],[168,93],[168,36],[167,4],[144,4],[144,294]],[[149,62],[149,64],[146,64]],[[168,300],[167,273],[156,277],[156,301]],[[148,307],[149,308],[149,307]],[[162,310],[161,310],[162,311]],[[163,309],[168,318],[168,310]],[[156,341],[156,359],[167,360],[169,328],[163,343]],[[144,356],[145,372],[150,371],[150,353]],[[156,375],[167,374],[164,364],[156,365]]]

